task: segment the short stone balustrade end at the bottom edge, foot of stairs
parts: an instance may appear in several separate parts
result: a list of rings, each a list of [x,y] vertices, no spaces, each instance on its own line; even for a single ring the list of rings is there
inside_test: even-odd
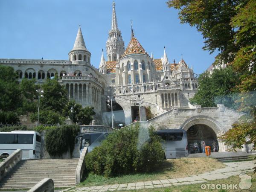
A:
[[[54,192],[53,180],[50,178],[44,178],[29,189],[28,192]]]

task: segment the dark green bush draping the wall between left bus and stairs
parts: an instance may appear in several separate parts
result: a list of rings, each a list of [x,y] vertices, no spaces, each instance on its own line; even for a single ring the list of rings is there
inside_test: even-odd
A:
[[[45,143],[46,150],[52,156],[61,156],[70,149],[72,154],[75,146],[75,138],[80,129],[78,125],[62,125],[47,128]]]

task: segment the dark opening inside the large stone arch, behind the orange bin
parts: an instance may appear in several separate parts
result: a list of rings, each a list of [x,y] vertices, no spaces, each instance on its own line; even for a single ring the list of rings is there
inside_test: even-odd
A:
[[[215,132],[208,125],[195,124],[187,132],[189,153],[203,152],[203,143],[210,146],[211,151],[219,151],[218,140]]]

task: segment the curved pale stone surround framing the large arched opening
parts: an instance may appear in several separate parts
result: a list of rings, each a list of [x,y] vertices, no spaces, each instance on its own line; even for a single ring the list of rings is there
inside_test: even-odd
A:
[[[221,127],[220,123],[218,123],[215,119],[209,116],[193,116],[187,119],[182,125],[181,128],[188,131],[194,125],[206,125],[210,128],[216,135],[219,137],[225,133],[224,129]],[[224,143],[218,139],[219,152],[225,151]]]

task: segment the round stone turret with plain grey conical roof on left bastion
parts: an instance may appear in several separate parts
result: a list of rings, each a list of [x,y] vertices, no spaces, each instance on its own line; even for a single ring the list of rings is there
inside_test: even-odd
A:
[[[72,63],[79,63],[83,61],[84,63],[90,64],[90,52],[86,49],[84,43],[84,37],[79,25],[79,29],[76,35],[76,41],[73,49],[69,52],[69,60]]]

